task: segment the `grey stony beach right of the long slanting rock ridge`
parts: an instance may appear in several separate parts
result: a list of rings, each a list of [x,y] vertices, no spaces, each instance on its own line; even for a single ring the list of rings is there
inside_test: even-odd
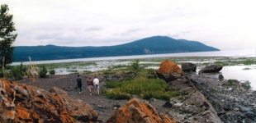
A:
[[[211,75],[187,76],[215,108],[221,121],[256,122],[256,91],[247,91],[241,84],[226,85],[227,80],[219,80]]]

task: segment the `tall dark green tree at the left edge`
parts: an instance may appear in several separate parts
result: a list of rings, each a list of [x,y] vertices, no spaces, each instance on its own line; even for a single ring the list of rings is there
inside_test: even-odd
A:
[[[3,4],[0,8],[0,66],[6,66],[14,60],[12,43],[17,38],[17,34],[12,34],[15,31],[12,15],[8,13],[8,5]],[[4,60],[3,60],[4,59]]]

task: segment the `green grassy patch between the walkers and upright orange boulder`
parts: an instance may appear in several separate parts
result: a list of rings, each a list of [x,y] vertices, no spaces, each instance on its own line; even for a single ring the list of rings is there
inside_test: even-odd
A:
[[[140,98],[159,98],[169,100],[180,93],[168,90],[168,84],[164,80],[147,79],[145,77],[137,77],[133,80],[125,80],[121,82],[107,82],[107,98],[112,99],[129,99],[130,95],[137,95]]]

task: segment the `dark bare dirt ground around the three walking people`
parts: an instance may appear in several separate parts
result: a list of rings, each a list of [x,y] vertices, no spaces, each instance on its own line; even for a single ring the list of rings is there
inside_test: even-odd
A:
[[[93,76],[93,75],[91,75]],[[112,114],[116,111],[114,108],[116,106],[123,106],[129,100],[112,100],[108,99],[101,91],[100,95],[95,95],[92,90],[92,95],[89,93],[88,85],[86,83],[86,77],[82,76],[83,88],[82,93],[79,94],[78,90],[74,89],[77,86],[76,82],[77,75],[50,75],[49,78],[40,78],[36,80],[36,84],[39,85],[39,88],[45,89],[49,91],[52,87],[57,87],[59,89],[63,89],[66,91],[69,96],[72,98],[80,98],[84,103],[88,103],[94,111],[98,113],[98,120],[102,120],[106,122],[107,119],[111,117]],[[103,88],[105,82],[102,82],[102,75],[98,75],[100,80],[100,88]],[[30,80],[20,80],[18,83],[21,84],[30,84]],[[143,100],[143,99],[141,99]],[[145,101],[145,100],[143,100]],[[168,112],[166,107],[162,107],[166,103],[164,100],[154,99],[154,102],[150,104],[158,111],[158,112]]]

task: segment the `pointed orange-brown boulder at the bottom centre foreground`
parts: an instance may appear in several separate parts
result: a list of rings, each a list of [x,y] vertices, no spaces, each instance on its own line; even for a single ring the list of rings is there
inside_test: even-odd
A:
[[[107,123],[133,122],[133,123],[176,123],[170,117],[159,114],[149,103],[142,103],[132,98],[123,107],[116,110]]]

